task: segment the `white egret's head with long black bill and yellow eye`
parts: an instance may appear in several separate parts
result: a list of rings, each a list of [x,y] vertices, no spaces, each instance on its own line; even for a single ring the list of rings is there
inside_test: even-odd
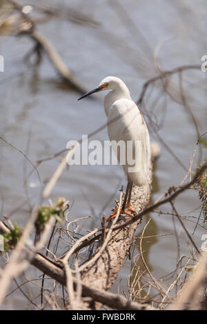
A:
[[[95,93],[95,92],[99,92],[99,91],[103,91],[103,90],[116,90],[117,87],[119,87],[119,85],[121,85],[121,83],[124,83],[124,82],[121,81],[121,79],[119,79],[117,77],[106,77],[99,83],[97,88],[87,92],[86,94],[83,94],[83,96],[80,97],[78,100],[88,97],[90,94]]]

